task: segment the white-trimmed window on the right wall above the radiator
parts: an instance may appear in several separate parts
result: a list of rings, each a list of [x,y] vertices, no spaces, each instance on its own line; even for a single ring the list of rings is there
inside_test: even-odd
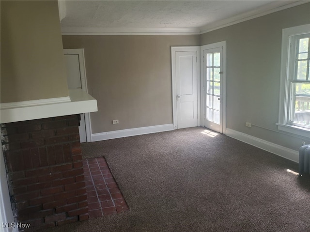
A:
[[[282,31],[279,130],[310,136],[310,24]]]

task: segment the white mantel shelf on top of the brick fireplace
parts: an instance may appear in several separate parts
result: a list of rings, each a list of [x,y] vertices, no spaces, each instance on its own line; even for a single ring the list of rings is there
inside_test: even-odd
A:
[[[82,89],[69,89],[69,97],[67,98],[3,103],[0,107],[0,123],[96,111],[98,111],[96,99]]]

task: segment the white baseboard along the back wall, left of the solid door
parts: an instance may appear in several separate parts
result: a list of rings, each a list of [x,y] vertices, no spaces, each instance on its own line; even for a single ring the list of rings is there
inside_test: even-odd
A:
[[[150,133],[173,131],[173,130],[174,130],[173,124],[164,124],[151,127],[125,129],[120,131],[109,131],[109,132],[92,134],[92,141],[95,142],[107,139],[116,139],[140,134],[150,134]]]

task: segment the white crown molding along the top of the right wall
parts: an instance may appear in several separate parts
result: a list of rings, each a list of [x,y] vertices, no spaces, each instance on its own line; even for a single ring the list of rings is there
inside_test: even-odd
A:
[[[225,28],[228,26],[232,26],[234,24],[237,23],[241,23],[244,21],[248,21],[251,20],[253,18],[258,18],[261,17],[263,15],[267,15],[267,14],[272,14],[278,11],[282,11],[288,8],[292,8],[294,6],[299,6],[305,3],[309,3],[309,0],[298,0],[298,1],[288,1],[290,3],[283,5],[282,1],[274,1],[270,4],[267,4],[265,6],[262,7],[258,7],[255,10],[252,11],[248,11],[246,13],[243,14],[238,14],[235,15],[233,17],[224,19],[224,20],[220,20],[217,21],[215,23],[211,23],[209,25],[203,26],[200,28],[200,34],[204,34],[213,30],[217,30],[217,29],[221,29],[221,28]]]

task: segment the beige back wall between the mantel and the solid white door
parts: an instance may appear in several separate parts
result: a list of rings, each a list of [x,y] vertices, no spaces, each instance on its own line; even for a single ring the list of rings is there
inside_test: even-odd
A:
[[[98,112],[91,113],[93,133],[172,123],[171,46],[200,42],[198,35],[62,40],[63,48],[84,48],[88,92],[98,103]]]

